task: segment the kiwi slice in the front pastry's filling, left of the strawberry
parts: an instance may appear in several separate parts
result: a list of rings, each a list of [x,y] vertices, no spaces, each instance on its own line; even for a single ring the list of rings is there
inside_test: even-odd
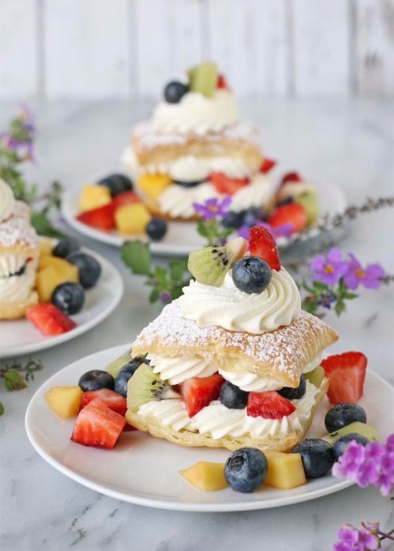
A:
[[[166,398],[179,398],[179,394],[170,385],[164,383],[159,375],[153,373],[152,367],[141,363],[135,374],[128,380],[128,409],[137,412],[139,406],[146,402],[160,401]]]

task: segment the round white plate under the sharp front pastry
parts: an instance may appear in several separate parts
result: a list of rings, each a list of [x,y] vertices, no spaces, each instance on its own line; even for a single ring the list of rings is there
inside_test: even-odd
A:
[[[99,450],[70,441],[74,419],[57,418],[46,406],[44,394],[53,386],[77,385],[89,369],[104,368],[120,356],[127,345],[82,358],[61,369],[32,397],[26,412],[26,432],[35,450],[52,467],[92,490],[138,505],[181,511],[242,511],[266,509],[308,501],[350,486],[350,481],[331,475],[309,481],[294,490],[263,487],[253,494],[239,494],[230,488],[199,492],[178,474],[196,461],[226,461],[228,450],[180,447],[140,432],[124,432],[113,450]],[[369,372],[359,404],[366,409],[368,423],[380,438],[392,432],[394,389]],[[319,407],[308,436],[322,436],[325,400]]]

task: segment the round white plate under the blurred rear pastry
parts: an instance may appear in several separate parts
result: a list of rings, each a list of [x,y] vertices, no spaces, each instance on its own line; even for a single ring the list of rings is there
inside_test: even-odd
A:
[[[316,186],[317,199],[319,204],[322,205],[322,213],[333,215],[340,213],[346,208],[346,200],[342,190],[337,186],[324,186],[320,184]],[[125,240],[145,240],[141,235],[120,235],[116,231],[102,231],[92,228],[86,224],[82,224],[77,220],[77,204],[78,204],[79,190],[68,191],[63,197],[61,204],[61,213],[72,226],[80,233],[88,235],[89,238],[115,245],[115,247],[121,247],[121,244]],[[315,238],[319,234],[317,229],[311,228],[307,234],[305,234],[302,240]],[[168,231],[164,239],[160,242],[151,242],[150,250],[152,253],[162,255],[181,255],[187,256],[193,249],[203,247],[206,241],[198,235],[194,222],[168,222]],[[286,249],[292,244],[291,239],[279,238],[278,245],[281,249]]]

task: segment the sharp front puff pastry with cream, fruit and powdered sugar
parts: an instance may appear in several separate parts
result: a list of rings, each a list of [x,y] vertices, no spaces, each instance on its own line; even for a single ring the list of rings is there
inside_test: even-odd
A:
[[[179,445],[290,451],[328,380],[335,331],[301,310],[270,233],[193,251],[195,280],[137,336],[147,354],[128,383],[128,423]],[[149,364],[149,365],[148,365]]]

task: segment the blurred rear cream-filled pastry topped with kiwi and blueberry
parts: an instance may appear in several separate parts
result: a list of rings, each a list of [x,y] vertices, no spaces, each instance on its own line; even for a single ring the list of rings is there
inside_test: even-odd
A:
[[[257,128],[239,117],[213,63],[170,82],[152,119],[133,128],[122,160],[153,215],[196,218],[193,203],[231,195],[231,210],[268,214],[275,185],[265,173]]]

